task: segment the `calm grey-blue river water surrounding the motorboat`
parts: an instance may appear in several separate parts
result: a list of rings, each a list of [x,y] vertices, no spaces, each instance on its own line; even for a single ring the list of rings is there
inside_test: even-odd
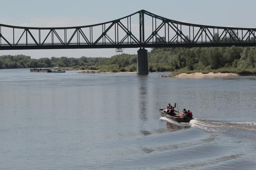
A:
[[[0,70],[0,169],[256,169],[256,77],[163,74]]]

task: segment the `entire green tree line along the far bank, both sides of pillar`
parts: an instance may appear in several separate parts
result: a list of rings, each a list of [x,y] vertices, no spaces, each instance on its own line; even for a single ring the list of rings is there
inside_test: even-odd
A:
[[[72,67],[81,70],[136,71],[137,55],[118,54],[106,57],[51,57],[34,59],[25,55],[0,56],[3,68]],[[150,72],[187,70],[211,70],[218,68],[256,68],[256,47],[194,47],[152,48],[148,52]]]

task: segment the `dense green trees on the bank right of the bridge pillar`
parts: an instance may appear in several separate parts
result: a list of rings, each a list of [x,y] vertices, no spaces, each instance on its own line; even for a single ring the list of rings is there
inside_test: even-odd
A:
[[[195,48],[154,48],[148,53],[150,71],[159,71],[165,63],[167,71],[186,68],[187,70],[211,70],[222,67],[255,68],[256,47],[195,47]]]

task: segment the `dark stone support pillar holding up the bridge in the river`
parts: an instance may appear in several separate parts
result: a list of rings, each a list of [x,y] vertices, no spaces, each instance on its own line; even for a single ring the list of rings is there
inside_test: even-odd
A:
[[[137,52],[137,74],[148,74],[148,50],[140,48]]]

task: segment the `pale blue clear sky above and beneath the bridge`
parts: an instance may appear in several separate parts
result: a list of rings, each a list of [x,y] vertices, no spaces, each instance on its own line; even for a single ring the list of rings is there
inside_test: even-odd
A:
[[[147,10],[202,25],[256,28],[255,0],[1,0],[0,23],[29,27],[91,25]],[[126,48],[124,53],[136,53]],[[0,55],[111,57],[115,49],[0,50]]]

